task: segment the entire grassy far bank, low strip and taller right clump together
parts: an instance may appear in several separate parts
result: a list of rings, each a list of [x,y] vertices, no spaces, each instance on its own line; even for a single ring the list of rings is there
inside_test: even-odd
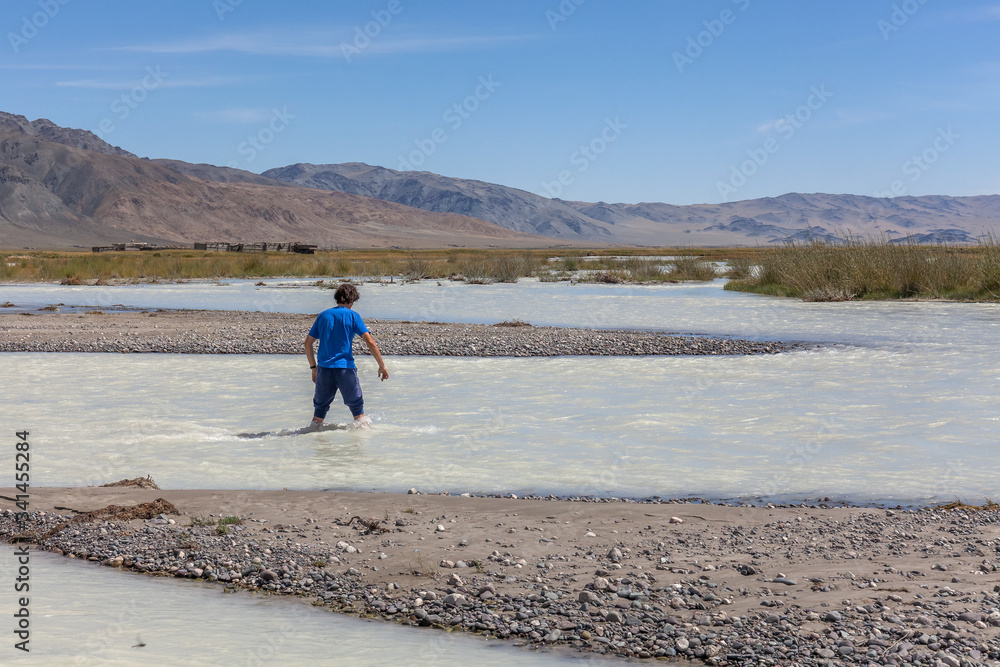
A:
[[[953,299],[1000,301],[1000,241],[942,247],[847,239],[778,248],[596,250],[341,250],[315,255],[160,252],[3,253],[0,281],[79,283],[224,278],[574,280],[655,284],[709,281],[728,263],[726,289],[809,301]]]

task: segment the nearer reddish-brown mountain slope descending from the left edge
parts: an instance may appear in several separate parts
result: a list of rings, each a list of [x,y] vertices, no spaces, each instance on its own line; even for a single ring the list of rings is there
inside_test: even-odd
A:
[[[303,241],[342,247],[544,246],[548,239],[451,213],[270,183],[211,168],[202,180],[82,131],[18,122],[0,133],[0,247],[112,241]],[[59,141],[42,138],[46,134]],[[98,140],[100,141],[100,140]],[[87,145],[79,148],[76,144]],[[203,168],[186,165],[198,173]],[[238,170],[229,170],[238,171]],[[243,172],[246,173],[246,172]]]

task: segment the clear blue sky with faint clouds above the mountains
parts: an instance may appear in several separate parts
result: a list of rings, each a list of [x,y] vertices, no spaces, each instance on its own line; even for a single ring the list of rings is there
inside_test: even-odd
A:
[[[141,156],[629,203],[1000,193],[989,0],[6,0],[0,29],[0,110]]]

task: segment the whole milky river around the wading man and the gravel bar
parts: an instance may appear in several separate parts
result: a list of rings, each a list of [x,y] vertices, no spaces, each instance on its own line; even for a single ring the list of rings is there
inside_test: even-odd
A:
[[[269,285],[279,281],[267,281]],[[4,286],[0,299],[317,312],[309,286]],[[304,357],[5,354],[6,423],[38,485],[151,474],[170,488],[1000,496],[1000,306],[811,304],[709,285],[362,286],[366,318],[647,328],[833,343],[762,357],[360,360],[369,432],[241,439],[309,419]],[[41,316],[40,316],[41,317]],[[304,334],[305,332],[303,332]],[[346,418],[335,404],[332,416]]]

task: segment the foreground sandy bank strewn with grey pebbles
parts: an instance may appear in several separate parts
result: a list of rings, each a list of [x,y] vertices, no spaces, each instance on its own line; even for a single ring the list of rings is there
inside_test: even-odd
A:
[[[995,506],[92,487],[32,489],[17,523],[0,493],[7,540],[396,623],[709,665],[1000,664]]]

